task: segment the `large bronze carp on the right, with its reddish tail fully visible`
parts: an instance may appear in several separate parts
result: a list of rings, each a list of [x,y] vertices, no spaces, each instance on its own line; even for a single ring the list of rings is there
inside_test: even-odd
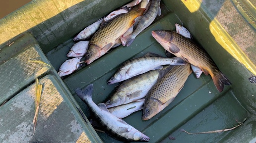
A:
[[[231,85],[230,80],[218,69],[210,55],[191,39],[177,32],[166,30],[152,31],[152,36],[172,54],[199,67],[205,75],[210,74],[215,87],[220,93],[223,91],[224,85]]]

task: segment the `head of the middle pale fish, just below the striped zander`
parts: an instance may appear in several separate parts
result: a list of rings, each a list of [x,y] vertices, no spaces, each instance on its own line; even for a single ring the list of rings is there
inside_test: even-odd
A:
[[[106,102],[107,108],[115,107],[124,104],[126,98],[126,92],[120,91],[112,95]]]

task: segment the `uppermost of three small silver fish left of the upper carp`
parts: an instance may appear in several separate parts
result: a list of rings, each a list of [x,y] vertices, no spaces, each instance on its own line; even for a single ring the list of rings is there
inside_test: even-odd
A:
[[[87,26],[84,30],[78,33],[74,38],[73,41],[81,41],[81,40],[88,40],[99,28],[103,21],[103,18],[100,18],[93,24]]]

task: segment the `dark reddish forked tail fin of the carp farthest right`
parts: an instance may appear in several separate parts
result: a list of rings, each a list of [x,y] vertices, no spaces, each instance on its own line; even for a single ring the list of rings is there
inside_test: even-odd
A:
[[[219,72],[218,75],[212,77],[212,80],[220,93],[223,91],[224,85],[231,85],[229,79],[222,72]]]

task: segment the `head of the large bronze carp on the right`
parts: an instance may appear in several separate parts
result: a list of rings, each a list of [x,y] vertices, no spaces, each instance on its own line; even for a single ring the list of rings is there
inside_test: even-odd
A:
[[[155,40],[160,43],[169,43],[172,40],[172,35],[170,34],[171,31],[168,30],[155,30],[152,31],[151,34],[155,38]]]

